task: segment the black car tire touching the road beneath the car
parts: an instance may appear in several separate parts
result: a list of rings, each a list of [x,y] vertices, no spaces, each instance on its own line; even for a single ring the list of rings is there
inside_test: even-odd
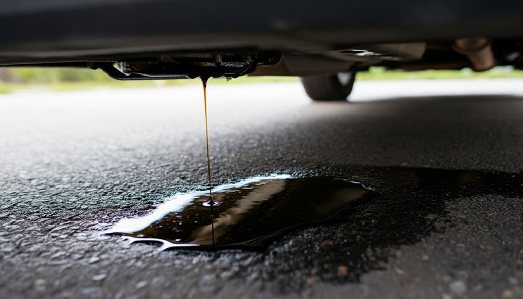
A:
[[[345,101],[353,90],[355,72],[301,77],[307,95],[314,101]]]

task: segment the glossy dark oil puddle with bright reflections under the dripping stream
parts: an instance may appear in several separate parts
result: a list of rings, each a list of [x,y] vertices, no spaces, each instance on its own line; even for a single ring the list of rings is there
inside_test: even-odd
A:
[[[149,216],[122,220],[106,233],[131,243],[161,242],[162,249],[263,248],[291,228],[336,220],[381,196],[347,180],[289,176],[253,178],[211,193],[214,206],[206,204],[209,191],[178,194]]]

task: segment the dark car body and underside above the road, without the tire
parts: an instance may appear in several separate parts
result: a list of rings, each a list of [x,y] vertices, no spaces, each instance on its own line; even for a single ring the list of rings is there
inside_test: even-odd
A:
[[[1,66],[117,79],[523,68],[523,2],[2,1]],[[482,51],[482,53],[479,53]]]

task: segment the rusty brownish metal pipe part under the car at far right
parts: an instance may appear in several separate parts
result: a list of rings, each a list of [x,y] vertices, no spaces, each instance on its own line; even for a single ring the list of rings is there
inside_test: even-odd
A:
[[[467,56],[474,71],[484,72],[497,64],[491,42],[488,38],[460,38],[452,43],[452,49]]]

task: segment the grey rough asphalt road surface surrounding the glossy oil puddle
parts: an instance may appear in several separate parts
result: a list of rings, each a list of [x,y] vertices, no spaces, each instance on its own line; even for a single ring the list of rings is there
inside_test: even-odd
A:
[[[0,298],[523,297],[523,80],[208,92],[215,183],[332,176],[383,197],[261,251],[128,245],[99,234],[205,188],[201,88],[2,95]]]

